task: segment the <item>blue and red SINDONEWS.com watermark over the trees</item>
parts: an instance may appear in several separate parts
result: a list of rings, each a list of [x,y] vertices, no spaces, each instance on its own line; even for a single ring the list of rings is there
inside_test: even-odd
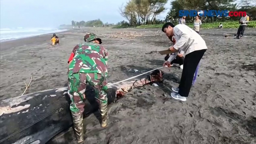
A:
[[[235,16],[241,17],[246,16],[246,12],[242,11],[228,11],[228,10],[179,10],[179,16]]]

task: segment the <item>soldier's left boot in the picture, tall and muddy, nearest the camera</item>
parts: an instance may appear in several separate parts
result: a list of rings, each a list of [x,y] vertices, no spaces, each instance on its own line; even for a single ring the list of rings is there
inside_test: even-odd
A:
[[[83,127],[83,113],[71,112],[74,128],[75,128],[75,137],[77,138],[77,142],[81,143],[84,141],[84,127]]]

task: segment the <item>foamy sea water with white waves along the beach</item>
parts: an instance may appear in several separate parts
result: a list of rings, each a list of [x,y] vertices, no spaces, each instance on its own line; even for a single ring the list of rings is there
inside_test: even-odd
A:
[[[14,40],[18,38],[32,37],[35,35],[67,31],[59,28],[1,28],[0,41]]]

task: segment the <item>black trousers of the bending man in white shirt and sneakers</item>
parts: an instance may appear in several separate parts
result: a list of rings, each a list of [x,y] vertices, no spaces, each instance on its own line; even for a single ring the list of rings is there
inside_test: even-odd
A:
[[[196,72],[197,65],[203,57],[206,50],[193,51],[186,55],[181,75],[181,82],[179,84],[179,95],[188,97],[194,73]]]

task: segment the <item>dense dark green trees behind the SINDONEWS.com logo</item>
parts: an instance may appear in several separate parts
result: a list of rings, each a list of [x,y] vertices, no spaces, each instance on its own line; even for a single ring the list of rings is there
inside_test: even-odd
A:
[[[229,11],[246,11],[251,20],[256,20],[256,1],[255,0],[172,0],[171,9],[166,16],[166,21],[177,23],[179,10],[229,10]],[[253,2],[254,1],[254,2]],[[203,17],[204,22],[218,21],[238,21],[239,17]],[[187,22],[193,22],[194,17],[187,16]]]

